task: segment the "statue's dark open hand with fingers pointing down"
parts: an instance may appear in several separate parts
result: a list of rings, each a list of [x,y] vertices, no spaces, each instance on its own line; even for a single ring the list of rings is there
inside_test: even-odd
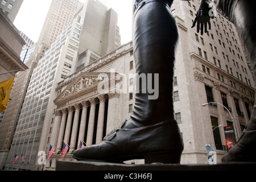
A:
[[[197,33],[201,30],[201,35],[203,35],[204,32],[207,32],[207,27],[209,27],[210,30],[210,19],[213,18],[214,14],[212,9],[199,9],[191,28],[195,27],[197,23]]]

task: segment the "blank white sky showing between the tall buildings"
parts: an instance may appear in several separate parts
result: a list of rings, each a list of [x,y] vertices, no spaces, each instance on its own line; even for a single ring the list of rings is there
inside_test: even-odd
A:
[[[80,0],[84,2],[85,0]],[[99,0],[118,14],[121,43],[131,41],[132,1],[133,0]],[[18,30],[26,34],[34,42],[38,41],[44,20],[52,0],[24,0],[14,20]]]

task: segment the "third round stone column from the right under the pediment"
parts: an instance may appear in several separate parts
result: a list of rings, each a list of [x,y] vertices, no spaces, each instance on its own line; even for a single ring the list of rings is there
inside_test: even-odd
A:
[[[85,102],[82,102],[81,105],[82,105],[82,116],[81,116],[80,131],[79,131],[79,143],[77,144],[77,147],[79,147],[80,140],[84,142],[87,109],[88,109],[89,103],[85,101]]]

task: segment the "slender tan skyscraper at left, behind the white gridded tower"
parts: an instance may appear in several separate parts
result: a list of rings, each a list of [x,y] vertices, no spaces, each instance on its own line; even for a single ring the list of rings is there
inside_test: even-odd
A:
[[[2,124],[8,127],[0,126],[0,150],[10,150],[34,68],[38,65],[39,60],[44,56],[44,53],[49,49],[56,37],[63,31],[64,26],[67,26],[71,21],[80,5],[81,3],[78,0],[52,1],[46,21],[40,33],[40,38],[36,43],[35,51],[31,53],[26,63],[28,69],[16,75],[13,92],[10,96],[13,99],[10,101],[10,105],[7,107],[2,119]]]

